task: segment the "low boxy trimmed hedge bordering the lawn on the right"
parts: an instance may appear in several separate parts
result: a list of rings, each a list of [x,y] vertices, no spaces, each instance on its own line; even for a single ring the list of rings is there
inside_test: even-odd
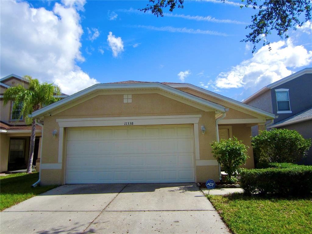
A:
[[[289,165],[288,165],[289,166]],[[305,196],[312,192],[312,166],[264,168],[241,171],[244,193]]]

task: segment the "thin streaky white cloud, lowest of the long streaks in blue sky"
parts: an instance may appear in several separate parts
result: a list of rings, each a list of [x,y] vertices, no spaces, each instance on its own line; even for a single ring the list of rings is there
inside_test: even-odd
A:
[[[146,29],[154,30],[154,31],[181,32],[181,33],[191,33],[191,34],[209,34],[209,35],[216,35],[216,36],[223,36],[223,37],[229,36],[223,32],[193,29],[193,28],[176,28],[176,27],[171,27],[171,26],[155,27],[155,26],[145,26],[145,25],[134,25],[133,27],[146,28]]]

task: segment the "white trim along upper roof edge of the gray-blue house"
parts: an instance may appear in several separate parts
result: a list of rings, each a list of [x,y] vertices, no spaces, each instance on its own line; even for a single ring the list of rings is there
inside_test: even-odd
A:
[[[254,98],[256,98],[257,96],[263,94],[265,91],[270,90],[270,89],[274,89],[276,86],[282,85],[290,80],[293,80],[299,76],[302,76],[304,74],[310,74],[312,73],[312,67],[307,67],[305,69],[302,69],[300,71],[295,72],[294,74],[291,74],[290,76],[286,76],[283,79],[277,80],[274,83],[270,84],[270,85],[266,85],[265,87],[263,87],[261,90],[257,91],[256,93],[254,93],[253,95],[251,95],[250,97],[246,98],[245,100],[243,100],[243,103],[247,103],[251,100],[253,100]]]

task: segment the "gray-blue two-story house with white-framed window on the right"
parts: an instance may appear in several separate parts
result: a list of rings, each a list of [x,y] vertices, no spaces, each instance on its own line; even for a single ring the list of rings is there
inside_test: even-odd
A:
[[[278,115],[267,129],[291,129],[305,139],[312,138],[312,68],[265,86],[243,103]],[[257,134],[258,129],[253,127],[252,135]],[[312,147],[302,163],[312,165]]]

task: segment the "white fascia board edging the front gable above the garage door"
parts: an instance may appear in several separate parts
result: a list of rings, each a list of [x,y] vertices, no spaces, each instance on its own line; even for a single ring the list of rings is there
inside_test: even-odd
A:
[[[60,101],[52,103],[51,105],[48,105],[37,111],[34,111],[31,115],[29,115],[29,117],[31,118],[41,117],[57,108],[60,108],[62,105],[69,104],[71,102],[74,102],[82,98],[83,96],[87,94],[91,94],[100,90],[144,90],[144,89],[145,90],[146,89],[163,90],[173,95],[184,97],[185,99],[191,100],[197,104],[208,106],[209,108],[212,108],[220,112],[225,112],[225,107],[222,105],[218,105],[216,103],[213,103],[213,102],[204,100],[202,98],[196,97],[194,95],[185,93],[181,90],[177,90],[168,85],[163,85],[158,82],[150,82],[150,83],[130,83],[130,84],[95,84],[95,85],[90,86],[89,88],[86,88],[73,95],[70,95]]]

